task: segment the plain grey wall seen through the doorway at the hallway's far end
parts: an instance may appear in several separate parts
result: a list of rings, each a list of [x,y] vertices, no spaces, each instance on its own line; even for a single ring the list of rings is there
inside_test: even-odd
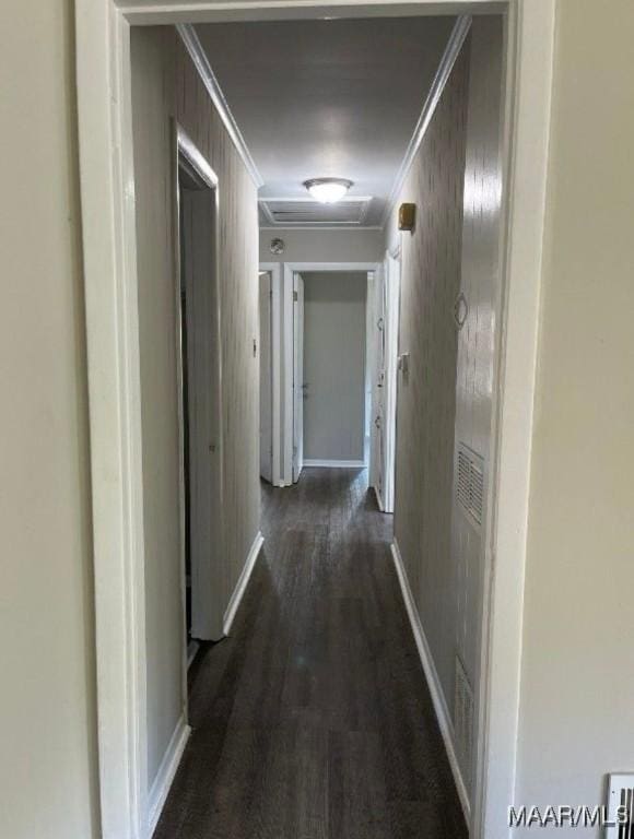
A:
[[[367,273],[304,273],[305,460],[363,460]]]

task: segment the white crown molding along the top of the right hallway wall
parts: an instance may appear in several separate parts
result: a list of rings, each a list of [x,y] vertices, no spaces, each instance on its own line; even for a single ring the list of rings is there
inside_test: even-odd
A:
[[[423,109],[421,111],[421,116],[419,117],[419,121],[416,122],[416,127],[414,128],[412,139],[409,142],[402,163],[399,166],[399,169],[397,172],[397,175],[391,188],[391,192],[389,193],[389,199],[385,206],[381,227],[385,227],[386,224],[388,223],[391,211],[394,210],[394,206],[398,201],[398,197],[404,184],[408,172],[410,170],[410,167],[413,163],[416,152],[421,147],[423,138],[425,137],[430,122],[432,121],[432,117],[434,116],[434,111],[436,110],[438,102],[441,101],[443,91],[445,90],[445,86],[449,81],[449,76],[451,75],[451,70],[454,69],[456,59],[460,55],[460,50],[462,49],[462,44],[465,43],[465,38],[469,34],[470,28],[471,28],[471,15],[461,14],[456,21],[454,28],[451,29],[451,34],[449,35],[449,40],[447,42],[447,46],[445,47],[445,51],[443,52],[443,57],[441,58],[438,69],[436,70],[436,74],[434,75],[434,81],[432,82],[432,86],[430,87],[430,92],[423,105]]]

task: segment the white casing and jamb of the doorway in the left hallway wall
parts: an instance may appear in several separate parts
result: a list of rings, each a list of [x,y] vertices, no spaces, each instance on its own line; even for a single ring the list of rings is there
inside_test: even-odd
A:
[[[191,635],[222,638],[223,564],[220,504],[222,498],[222,411],[220,297],[216,269],[218,178],[179,127],[178,158],[199,186],[180,192],[184,229],[179,234],[177,271],[187,300],[189,544],[191,557]],[[179,218],[180,222],[180,218]],[[179,294],[179,292],[177,291]],[[183,361],[178,361],[178,366]],[[180,407],[181,411],[181,407]],[[184,420],[180,416],[181,438]],[[183,445],[183,442],[181,442]],[[181,464],[181,508],[185,474]],[[181,510],[181,527],[185,517]],[[181,536],[185,551],[185,534]]]

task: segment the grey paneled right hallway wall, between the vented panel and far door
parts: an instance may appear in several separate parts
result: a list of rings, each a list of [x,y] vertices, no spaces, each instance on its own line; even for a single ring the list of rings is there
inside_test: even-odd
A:
[[[469,48],[463,47],[397,204],[416,204],[402,234],[395,537],[421,623],[453,707],[456,569],[451,485],[457,339],[453,306],[460,287]],[[396,228],[390,220],[388,235]]]

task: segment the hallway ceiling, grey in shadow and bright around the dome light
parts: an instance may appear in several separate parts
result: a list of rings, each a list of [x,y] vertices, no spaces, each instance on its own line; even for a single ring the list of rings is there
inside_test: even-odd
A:
[[[307,178],[350,178],[351,197],[373,198],[363,225],[379,224],[454,23],[196,26],[265,181],[260,198],[306,199]]]

